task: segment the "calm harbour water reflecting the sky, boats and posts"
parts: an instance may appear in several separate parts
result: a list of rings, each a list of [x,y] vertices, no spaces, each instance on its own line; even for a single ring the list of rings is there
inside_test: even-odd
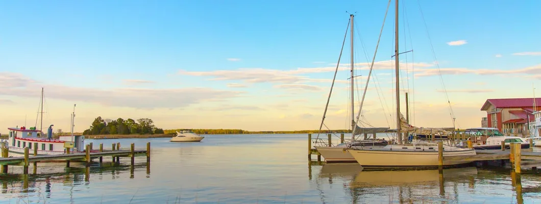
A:
[[[200,143],[165,138],[87,142],[106,148],[135,143],[137,149],[151,142],[150,168],[145,157],[136,157],[134,168],[129,158],[121,158],[119,167],[94,164],[86,182],[82,164],[65,169],[64,163],[38,163],[37,175],[0,177],[0,203],[541,203],[539,173],[520,176],[517,199],[509,169],[445,169],[440,177],[437,170],[309,166],[306,135],[208,135]],[[22,167],[9,172],[21,173]]]

